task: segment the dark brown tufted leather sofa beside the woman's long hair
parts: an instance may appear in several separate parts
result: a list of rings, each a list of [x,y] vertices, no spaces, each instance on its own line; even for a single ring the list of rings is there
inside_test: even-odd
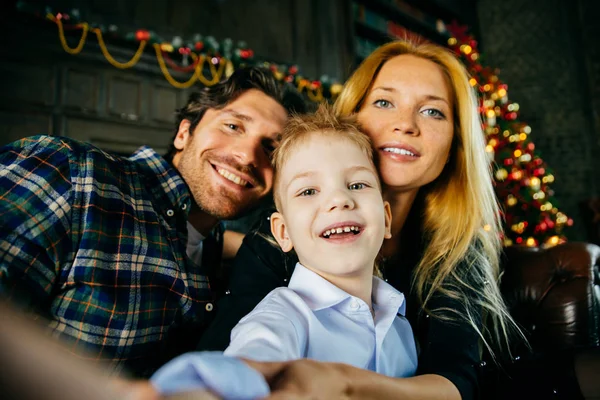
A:
[[[505,249],[501,291],[529,347],[482,363],[482,399],[600,399],[599,262],[590,243]]]

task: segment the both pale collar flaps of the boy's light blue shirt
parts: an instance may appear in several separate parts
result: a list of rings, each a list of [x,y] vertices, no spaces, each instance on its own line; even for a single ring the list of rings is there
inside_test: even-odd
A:
[[[288,287],[302,297],[313,311],[333,307],[352,297],[300,263],[296,264]],[[394,313],[402,315],[406,312],[404,295],[376,276],[373,276],[372,298],[377,308],[393,308]]]

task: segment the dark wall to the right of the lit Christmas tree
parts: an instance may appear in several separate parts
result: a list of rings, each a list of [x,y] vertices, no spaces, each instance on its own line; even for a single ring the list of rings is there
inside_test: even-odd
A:
[[[554,170],[558,206],[575,220],[571,240],[585,240],[580,204],[599,195],[600,58],[595,0],[480,0],[486,64],[500,68],[531,139]]]

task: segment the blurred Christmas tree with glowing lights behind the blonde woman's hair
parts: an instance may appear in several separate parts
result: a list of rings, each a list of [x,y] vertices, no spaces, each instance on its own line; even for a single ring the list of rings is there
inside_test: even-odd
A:
[[[556,207],[552,171],[519,120],[519,105],[508,98],[498,71],[483,66],[477,41],[467,28],[452,24],[448,46],[460,57],[478,89],[479,109],[494,168],[494,185],[504,218],[504,244],[550,247],[565,242],[563,230],[573,220]]]

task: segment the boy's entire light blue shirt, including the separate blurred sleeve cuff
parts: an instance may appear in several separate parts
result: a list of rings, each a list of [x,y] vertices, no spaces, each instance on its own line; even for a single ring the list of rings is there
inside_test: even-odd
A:
[[[340,362],[392,377],[413,376],[417,352],[404,295],[373,277],[368,305],[301,264],[287,288],[269,293],[233,329],[224,355],[188,353],[152,377],[162,394],[209,388],[225,399],[269,393],[262,375],[237,358]],[[236,378],[234,379],[233,376]]]

